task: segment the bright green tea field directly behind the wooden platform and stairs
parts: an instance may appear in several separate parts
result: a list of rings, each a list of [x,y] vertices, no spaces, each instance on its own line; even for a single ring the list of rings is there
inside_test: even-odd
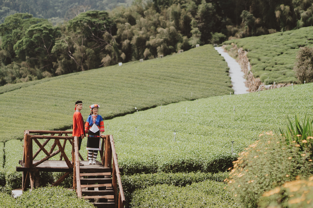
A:
[[[232,157],[235,157],[231,154],[231,141],[234,141],[233,152],[238,153],[257,140],[262,131],[279,131],[279,128],[285,127],[286,115],[292,118],[295,113],[300,116],[307,113],[312,118],[312,102],[312,84],[263,91],[260,96],[250,93],[183,101],[162,105],[161,109],[157,107],[105,120],[105,133],[114,135],[119,165],[126,175],[141,172],[218,172],[226,170],[229,166],[225,161],[231,163]],[[101,108],[99,114],[102,114]],[[177,133],[175,142],[174,130]],[[7,143],[10,142],[13,141]],[[18,160],[22,159],[22,145],[12,145],[14,153],[6,148],[6,169],[15,170],[18,166]],[[48,150],[49,145],[52,142],[47,144]],[[83,139],[80,153],[84,158],[85,145],[86,139]],[[35,146],[33,152],[37,151]],[[68,144],[66,152],[70,157]],[[43,152],[40,154],[38,159],[45,157]],[[53,159],[58,160],[59,157]],[[220,167],[219,164],[225,166]]]

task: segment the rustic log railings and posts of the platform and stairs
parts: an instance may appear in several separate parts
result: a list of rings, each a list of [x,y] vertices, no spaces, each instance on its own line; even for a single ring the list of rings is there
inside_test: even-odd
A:
[[[36,134],[50,134],[50,136],[45,135],[31,135],[31,133]],[[63,134],[65,136],[63,136]],[[77,195],[78,197],[82,197],[81,188],[80,188],[80,166],[79,159],[84,160],[78,151],[78,138],[77,137],[69,137],[68,134],[72,134],[72,131],[41,131],[41,130],[26,130],[24,132],[24,146],[23,146],[23,160],[20,161],[22,167],[17,167],[17,171],[23,172],[22,179],[22,189],[26,191],[29,187],[33,189],[39,186],[39,171],[44,172],[66,172],[62,177],[60,177],[52,186],[58,186],[66,177],[68,177],[69,173],[73,171],[73,189],[77,187]],[[115,193],[115,204],[118,202],[118,207],[122,208],[125,205],[125,196],[121,182],[121,173],[118,167],[117,154],[115,151],[115,144],[112,135],[101,135],[102,143],[100,150],[101,164],[106,168],[112,167],[112,156],[113,156],[113,168],[112,168],[112,186]],[[44,143],[40,143],[38,139],[46,139]],[[49,143],[50,140],[54,140],[50,151],[48,152],[45,149],[45,146]],[[60,139],[63,139],[63,145],[60,143]],[[33,141],[38,145],[38,150],[35,154],[33,154]],[[69,141],[70,145],[72,145],[72,161],[69,161],[69,157],[66,155],[64,149],[65,145]],[[58,150],[54,151],[55,147],[58,146]],[[33,160],[38,156],[38,154],[43,151],[46,154],[46,157],[41,160],[33,163]],[[43,162],[49,160],[51,157],[56,156],[61,153],[59,160],[64,159],[66,162],[66,168],[56,171],[57,167],[49,167],[43,168],[38,167],[38,165]],[[65,170],[66,169],[66,170]],[[117,201],[117,184],[119,185],[119,196]]]

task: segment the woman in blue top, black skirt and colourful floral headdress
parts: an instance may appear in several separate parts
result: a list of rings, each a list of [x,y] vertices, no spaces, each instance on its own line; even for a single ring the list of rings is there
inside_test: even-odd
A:
[[[85,133],[88,133],[87,150],[88,164],[96,164],[98,151],[101,150],[100,134],[104,132],[103,119],[98,115],[98,104],[90,105],[90,115],[85,123]]]

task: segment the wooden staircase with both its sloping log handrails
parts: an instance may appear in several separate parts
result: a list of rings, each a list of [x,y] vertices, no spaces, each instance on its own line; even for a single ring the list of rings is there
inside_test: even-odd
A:
[[[89,200],[95,207],[124,208],[125,196],[121,183],[121,175],[118,168],[113,136],[105,136],[107,136],[105,141],[105,155],[103,154],[103,151],[100,151],[102,163],[97,162],[96,165],[98,165],[98,167],[95,167],[95,165],[88,165],[88,161],[81,161],[84,166],[79,166],[78,145],[76,145],[78,144],[78,141],[76,137],[74,138],[75,166],[73,189],[76,188],[78,197]],[[103,146],[104,145],[102,145],[102,147]],[[110,168],[112,156],[113,168]],[[118,198],[117,183],[119,184],[120,191]]]

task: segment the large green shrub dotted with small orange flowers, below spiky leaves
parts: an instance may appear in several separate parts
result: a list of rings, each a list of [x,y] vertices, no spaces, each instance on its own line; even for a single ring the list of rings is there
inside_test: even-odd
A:
[[[239,153],[224,181],[245,207],[257,207],[264,192],[293,181],[299,175],[309,177],[313,173],[310,158],[308,149],[301,151],[297,143],[286,144],[273,132],[266,132]]]

